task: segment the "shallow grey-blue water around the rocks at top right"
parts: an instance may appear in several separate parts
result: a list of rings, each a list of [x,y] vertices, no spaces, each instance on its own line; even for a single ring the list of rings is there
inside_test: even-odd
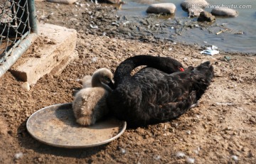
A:
[[[176,18],[188,17],[188,13],[181,9],[181,3],[183,0],[126,0],[127,4],[122,5],[122,9],[119,11],[122,15],[129,16],[146,16],[146,9],[149,4],[158,3],[173,3],[176,5]],[[256,53],[256,1],[252,0],[208,0],[209,4],[223,4],[237,6],[235,9],[238,11],[239,16],[235,18],[221,18],[217,17],[217,24],[225,24],[225,27],[232,29],[233,31],[243,31],[242,35],[234,33],[221,33],[215,35],[215,33],[208,33],[208,31],[201,31],[200,28],[193,28],[189,31],[185,31],[181,36],[178,36],[175,41],[185,42],[189,44],[198,43],[199,45],[216,45],[220,50],[242,53]],[[250,5],[248,9],[242,9],[244,6]],[[212,9],[205,9],[210,12]],[[193,18],[191,18],[192,20]],[[171,31],[170,31],[171,33]]]

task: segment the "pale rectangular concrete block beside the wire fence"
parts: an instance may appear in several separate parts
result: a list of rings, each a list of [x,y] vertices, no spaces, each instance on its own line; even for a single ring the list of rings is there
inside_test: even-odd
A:
[[[43,23],[38,24],[38,31],[38,40],[10,70],[29,84],[36,84],[46,74],[59,75],[70,61],[78,58],[78,53],[75,53],[77,32],[74,29]]]

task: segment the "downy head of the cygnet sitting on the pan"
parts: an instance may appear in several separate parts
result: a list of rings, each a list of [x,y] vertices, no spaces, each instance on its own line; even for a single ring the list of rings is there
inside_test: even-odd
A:
[[[114,75],[112,74],[112,72],[104,67],[104,68],[100,68],[99,70],[93,73],[92,82],[96,79],[103,84],[112,84],[113,77]],[[95,87],[95,86],[92,86],[92,87]]]

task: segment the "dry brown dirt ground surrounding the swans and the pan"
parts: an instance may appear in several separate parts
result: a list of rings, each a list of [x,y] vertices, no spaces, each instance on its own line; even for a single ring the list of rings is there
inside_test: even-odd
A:
[[[220,52],[208,56],[200,54],[198,45],[128,40],[108,31],[113,35],[99,35],[91,33],[92,28],[85,31],[90,26],[86,20],[84,26],[65,21],[77,12],[75,4],[36,2],[36,8],[40,21],[78,31],[79,59],[59,76],[42,77],[30,91],[11,72],[0,78],[0,163],[256,163],[255,55]],[[48,15],[52,11],[55,16]],[[176,58],[185,67],[210,60],[215,77],[198,106],[180,118],[127,129],[104,146],[55,148],[36,141],[26,131],[28,117],[38,109],[72,102],[84,75],[92,75],[100,67],[114,72],[122,60],[142,54]]]

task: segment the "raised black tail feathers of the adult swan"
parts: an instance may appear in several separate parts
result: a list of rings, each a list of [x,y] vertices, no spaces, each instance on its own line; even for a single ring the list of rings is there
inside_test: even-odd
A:
[[[206,92],[207,87],[213,78],[213,66],[210,62],[203,62],[198,65],[191,74],[193,90],[196,90],[196,99],[200,99],[201,96]]]

